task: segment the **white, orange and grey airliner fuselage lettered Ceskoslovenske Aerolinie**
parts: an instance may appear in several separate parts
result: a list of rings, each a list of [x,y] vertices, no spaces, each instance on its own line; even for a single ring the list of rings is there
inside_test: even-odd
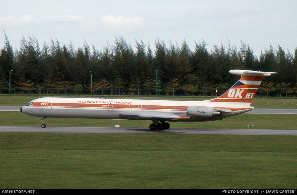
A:
[[[29,105],[32,104],[32,105]],[[207,111],[200,116],[188,114],[189,106],[206,106],[219,108],[216,102],[207,101],[176,101],[176,100],[133,100],[133,99],[102,99],[102,98],[38,98],[21,108],[25,114],[35,117],[54,118],[91,118],[91,119],[132,119],[120,114],[123,112],[143,114],[165,114],[185,117],[173,121],[209,121],[229,117],[230,115],[208,117]],[[232,107],[229,107],[232,106]],[[225,109],[233,111],[232,116],[253,109],[240,108],[226,103]],[[197,111],[200,112],[200,111]],[[204,116],[205,115],[205,116]],[[134,118],[141,119],[141,118]]]

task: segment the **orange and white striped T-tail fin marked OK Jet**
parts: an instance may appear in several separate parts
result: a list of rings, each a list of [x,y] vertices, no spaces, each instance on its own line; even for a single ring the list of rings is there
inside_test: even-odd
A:
[[[274,72],[258,72],[252,70],[230,70],[229,72],[241,75],[241,78],[223,95],[208,101],[249,106],[252,103],[264,76],[276,74]]]

